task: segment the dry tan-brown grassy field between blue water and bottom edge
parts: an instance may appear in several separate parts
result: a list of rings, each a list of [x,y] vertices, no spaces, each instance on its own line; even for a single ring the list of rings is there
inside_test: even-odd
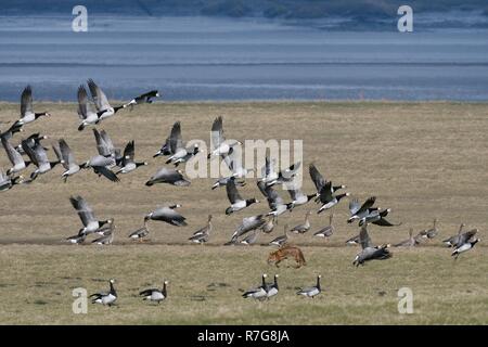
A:
[[[0,103],[0,129],[17,118],[18,106]],[[36,104],[52,117],[26,126],[14,142],[41,131],[65,138],[79,162],[97,150],[91,129],[76,130],[76,105]],[[488,270],[485,246],[488,227],[487,104],[468,103],[165,103],[123,111],[104,121],[117,146],[136,141],[136,156],[147,167],[121,177],[118,184],[82,172],[64,184],[62,168],[41,176],[30,185],[0,193],[0,323],[488,323]],[[396,228],[371,228],[373,242],[395,243],[440,220],[440,235],[415,249],[393,249],[394,257],[356,269],[359,250],[344,241],[358,232],[345,222],[347,202],[335,207],[336,234],[314,240],[311,232],[295,236],[308,265],[299,270],[266,264],[272,248],[224,247],[242,217],[267,210],[253,205],[227,217],[223,189],[211,191],[213,179],[194,180],[188,188],[166,184],[145,187],[147,178],[164,165],[153,159],[174,121],[181,120],[184,140],[209,141],[211,121],[223,117],[228,138],[303,139],[306,166],[313,162],[336,183],[364,200],[377,196],[390,207]],[[1,150],[0,167],[9,168]],[[49,152],[53,156],[52,151]],[[25,174],[31,171],[28,168]],[[312,191],[305,172],[306,192]],[[66,245],[62,240],[77,232],[79,219],[68,197],[81,194],[100,219],[114,217],[115,244],[107,247]],[[254,180],[242,189],[244,196],[261,198]],[[285,200],[288,196],[281,192]],[[152,222],[151,242],[131,244],[127,234],[139,228],[143,216],[166,202],[180,203],[189,227]],[[285,223],[303,222],[310,203],[280,217],[280,224],[261,243],[282,233]],[[187,239],[215,216],[209,244],[191,245]],[[329,214],[312,215],[312,232],[326,224]],[[481,239],[458,261],[441,240],[458,226],[478,228]],[[280,273],[281,291],[269,303],[241,298],[241,290],[259,283],[262,272]],[[323,277],[322,296],[307,300],[295,295],[297,286],[311,285]],[[89,306],[88,314],[72,312],[72,290],[89,293],[107,287],[115,278],[118,307]],[[168,279],[169,298],[159,307],[143,303],[137,293],[162,285]],[[397,291],[411,287],[414,313],[399,314]]]

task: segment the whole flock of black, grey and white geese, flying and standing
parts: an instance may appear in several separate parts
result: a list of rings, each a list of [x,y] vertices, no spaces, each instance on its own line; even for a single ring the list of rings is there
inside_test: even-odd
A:
[[[93,127],[92,132],[95,140],[97,154],[84,162],[77,162],[67,141],[65,139],[59,139],[56,143],[52,145],[55,159],[51,160],[48,156],[48,149],[42,144],[43,140],[48,137],[41,136],[40,133],[33,133],[26,139],[23,139],[20,143],[14,142],[14,136],[17,132],[24,131],[26,126],[41,117],[50,116],[48,112],[35,112],[33,105],[33,90],[28,86],[22,92],[20,119],[13,123],[8,130],[3,132],[0,131],[2,146],[12,164],[12,167],[7,171],[0,169],[0,192],[13,189],[15,185],[30,184],[39,176],[52,171],[57,165],[61,165],[64,168],[61,175],[64,182],[67,182],[69,177],[77,175],[81,170],[92,170],[93,174],[99,177],[104,177],[110,181],[118,182],[120,175],[132,172],[137,170],[138,167],[147,165],[146,162],[136,160],[134,141],[129,141],[124,150],[117,149],[114,146],[108,133],[105,130],[99,131],[95,126],[113,117],[120,110],[132,108],[144,103],[152,103],[155,98],[159,97],[157,90],[143,93],[127,103],[113,106],[108,103],[103,90],[92,79],[87,81],[87,86],[91,98],[89,98],[85,86],[80,86],[77,92],[78,116],[80,119],[78,130],[84,131],[89,126]],[[227,177],[219,178],[210,187],[211,190],[218,188],[226,189],[227,197],[229,200],[229,206],[224,210],[227,216],[241,213],[248,206],[259,203],[256,197],[243,197],[240,192],[240,190],[246,185],[246,176],[252,170],[244,168],[241,165],[240,158],[236,157],[235,153],[239,151],[234,151],[234,147],[237,145],[241,145],[240,141],[226,140],[222,118],[217,117],[211,126],[211,143],[207,158],[211,159],[213,157],[217,157],[223,160],[229,169],[230,174]],[[166,157],[165,163],[168,166],[158,169],[145,184],[147,187],[162,183],[176,187],[190,185],[191,180],[184,177],[184,172],[181,169],[178,169],[178,166],[187,163],[198,153],[200,147],[197,143],[185,146],[181,134],[181,124],[180,121],[176,121],[168,138],[153,155],[153,157]],[[170,165],[174,167],[170,167]],[[28,178],[25,178],[21,172],[29,166],[34,167],[34,169]],[[244,217],[241,224],[236,227],[230,241],[226,243],[226,245],[255,244],[259,233],[268,234],[275,229],[279,216],[291,213],[297,207],[304,206],[311,201],[319,205],[317,214],[322,214],[338,205],[343,198],[350,196],[349,192],[342,192],[346,189],[346,185],[333,184],[331,181],[326,180],[314,164],[309,165],[308,171],[316,189],[309,194],[304,193],[294,183],[294,179],[298,175],[300,166],[301,163],[298,162],[287,168],[279,170],[275,162],[271,159],[269,155],[266,156],[265,166],[261,168],[261,176],[257,180],[257,187],[262,194],[264,200],[266,200],[269,210],[259,215]],[[285,202],[278,193],[277,187],[279,185],[286,187],[286,191],[291,197],[288,202]],[[81,244],[87,241],[87,236],[95,235],[91,241],[92,243],[100,245],[112,244],[116,229],[114,219],[99,220],[95,217],[93,209],[82,196],[72,196],[69,201],[72,206],[76,209],[82,227],[75,235],[67,237],[67,241],[74,244]],[[389,215],[390,209],[376,207],[375,203],[375,196],[367,198],[363,203],[360,203],[357,198],[349,201],[349,218],[347,219],[347,222],[357,222],[360,227],[359,234],[346,242],[347,244],[359,244],[361,246],[361,250],[354,259],[352,264],[355,266],[364,265],[370,260],[384,260],[391,257],[389,250],[391,245],[374,245],[369,236],[368,227],[375,224],[382,228],[388,228],[399,226],[400,223],[388,221],[387,216]],[[181,207],[179,204],[168,204],[167,206],[158,207],[146,214],[143,218],[143,227],[131,232],[128,237],[142,242],[150,234],[147,223],[151,220],[163,221],[175,227],[187,226],[185,217],[178,211],[179,207]],[[298,226],[288,228],[288,226],[285,224],[283,234],[272,240],[269,244],[282,247],[290,242],[288,235],[291,233],[307,233],[311,229],[309,220],[311,213],[311,210],[307,210],[304,222]],[[334,215],[331,213],[329,224],[314,232],[313,235],[324,239],[332,236],[334,233],[333,217]],[[198,244],[208,242],[213,231],[211,219],[213,216],[209,215],[207,224],[196,230],[193,235],[189,237],[189,241]],[[444,241],[446,245],[453,247],[452,256],[454,258],[458,258],[461,253],[473,248],[479,241],[479,239],[476,237],[477,229],[464,231],[463,228],[464,224],[461,224],[458,234]],[[437,220],[435,220],[434,226],[431,229],[423,230],[416,235],[413,235],[413,230],[410,229],[409,239],[394,246],[414,247],[424,240],[434,239],[437,233]],[[145,290],[140,294],[144,299],[159,303],[167,297],[166,285],[167,281],[164,282],[164,286],[160,290]],[[112,305],[117,297],[114,288],[114,280],[110,281],[110,292],[94,294],[93,303]],[[264,274],[261,285],[249,290],[244,293],[243,296],[256,299],[269,298],[277,295],[278,290],[278,275],[274,277],[273,283],[268,284],[266,283],[266,274]],[[316,286],[303,288],[298,294],[314,297],[320,294],[320,292],[319,275],[317,278]]]

